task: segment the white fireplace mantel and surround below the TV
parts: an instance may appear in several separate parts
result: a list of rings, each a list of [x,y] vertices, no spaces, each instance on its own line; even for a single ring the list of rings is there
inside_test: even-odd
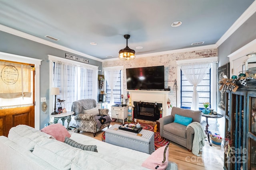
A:
[[[127,90],[133,102],[150,102],[150,103],[161,103],[163,112],[162,117],[166,116],[168,113],[167,100],[170,91],[158,91],[158,90]]]

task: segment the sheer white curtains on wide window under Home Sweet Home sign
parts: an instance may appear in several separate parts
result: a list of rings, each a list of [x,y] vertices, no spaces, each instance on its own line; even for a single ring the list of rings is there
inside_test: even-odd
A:
[[[72,102],[76,100],[90,98],[97,101],[98,70],[60,62],[53,64],[53,87],[60,88],[60,95],[57,98],[66,100],[66,110],[71,110]]]

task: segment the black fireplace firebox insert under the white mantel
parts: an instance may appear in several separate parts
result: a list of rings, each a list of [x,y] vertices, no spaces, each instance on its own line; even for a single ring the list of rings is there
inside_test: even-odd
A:
[[[160,118],[159,109],[162,104],[148,103],[148,102],[133,102],[134,104],[134,118],[149,121],[157,121]]]

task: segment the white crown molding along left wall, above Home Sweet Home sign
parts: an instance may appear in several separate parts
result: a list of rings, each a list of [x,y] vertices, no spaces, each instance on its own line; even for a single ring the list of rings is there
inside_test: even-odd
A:
[[[102,59],[98,59],[96,57],[93,57],[91,55],[87,55],[87,54],[84,54],[84,53],[81,53],[79,51],[76,51],[76,50],[73,50],[73,49],[70,49],[68,47],[64,47],[62,45],[58,45],[56,43],[52,43],[50,41],[47,41],[45,39],[42,39],[42,38],[38,38],[38,37],[35,37],[34,35],[30,35],[30,34],[27,34],[27,33],[24,33],[22,31],[18,31],[16,29],[13,29],[13,28],[10,28],[10,27],[6,27],[4,25],[1,25],[0,24],[0,31],[4,31],[6,33],[10,33],[12,35],[16,35],[18,37],[22,37],[22,38],[25,38],[25,39],[29,39],[31,41],[35,41],[37,43],[41,43],[41,44],[44,44],[44,45],[48,45],[50,47],[53,47],[53,48],[56,48],[56,49],[60,49],[60,50],[63,50],[63,51],[67,51],[67,52],[70,52],[70,53],[74,53],[76,55],[80,55],[82,57],[86,57],[88,59],[92,59],[92,60],[96,60],[96,61],[100,61],[102,62]]]

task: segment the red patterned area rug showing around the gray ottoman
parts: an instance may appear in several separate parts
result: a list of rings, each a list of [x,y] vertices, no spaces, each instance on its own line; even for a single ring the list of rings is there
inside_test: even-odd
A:
[[[154,126],[153,125],[148,125],[148,124],[140,124],[142,129],[148,130],[148,131],[154,131]],[[105,142],[105,132],[103,132],[102,141]],[[155,149],[158,149],[160,147],[163,147],[169,143],[168,139],[160,137],[160,133],[156,132],[155,133]]]

